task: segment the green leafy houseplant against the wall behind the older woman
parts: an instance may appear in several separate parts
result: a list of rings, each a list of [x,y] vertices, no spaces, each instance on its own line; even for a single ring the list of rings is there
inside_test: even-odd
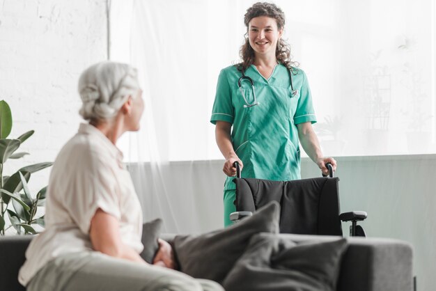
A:
[[[27,152],[17,152],[18,148],[29,139],[33,130],[22,134],[17,139],[8,139],[12,129],[12,113],[8,103],[0,101],[0,235],[5,235],[8,228],[15,228],[17,234],[36,233],[33,225],[44,227],[44,217],[38,217],[39,206],[45,203],[46,187],[38,194],[32,195],[27,183],[32,173],[52,166],[45,162],[20,168],[13,175],[4,175],[4,164],[8,159],[20,159]],[[8,219],[6,219],[6,216]]]

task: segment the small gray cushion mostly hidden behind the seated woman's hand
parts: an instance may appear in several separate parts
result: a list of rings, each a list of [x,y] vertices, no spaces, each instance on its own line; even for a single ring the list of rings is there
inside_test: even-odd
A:
[[[150,264],[153,264],[153,258],[155,258],[159,249],[157,239],[160,235],[160,228],[162,228],[162,219],[155,219],[142,225],[141,242],[143,244],[143,251],[140,255],[141,258]]]

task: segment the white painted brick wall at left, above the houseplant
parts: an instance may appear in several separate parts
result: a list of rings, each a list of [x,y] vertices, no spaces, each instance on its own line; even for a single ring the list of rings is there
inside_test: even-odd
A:
[[[13,113],[10,138],[35,130],[6,162],[6,174],[53,161],[77,131],[77,80],[88,65],[107,59],[106,0],[0,0],[0,100]],[[35,173],[37,191],[49,170]]]

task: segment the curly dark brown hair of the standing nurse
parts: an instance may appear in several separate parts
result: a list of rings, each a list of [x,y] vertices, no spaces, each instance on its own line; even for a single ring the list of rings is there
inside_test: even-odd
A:
[[[244,24],[247,26],[247,33],[245,33],[245,42],[240,50],[240,56],[242,58],[242,63],[238,63],[236,66],[238,70],[247,70],[247,68],[254,63],[254,49],[249,43],[249,38],[247,36],[249,29],[249,22],[254,17],[267,16],[274,18],[277,22],[277,28],[283,29],[285,26],[285,13],[281,8],[277,7],[273,3],[258,2],[254,3],[253,6],[247,9],[247,13],[244,15]],[[276,47],[276,58],[279,63],[284,65],[286,68],[292,70],[292,67],[297,67],[298,63],[295,61],[290,61],[291,58],[290,48],[285,40],[279,39]]]

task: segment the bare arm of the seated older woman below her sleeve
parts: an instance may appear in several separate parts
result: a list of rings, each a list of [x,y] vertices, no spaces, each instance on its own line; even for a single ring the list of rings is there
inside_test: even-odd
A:
[[[95,251],[100,251],[114,258],[123,258],[134,262],[146,263],[139,253],[130,246],[123,244],[119,233],[118,219],[111,214],[107,214],[100,208],[95,212],[91,219],[89,230],[91,243]]]

